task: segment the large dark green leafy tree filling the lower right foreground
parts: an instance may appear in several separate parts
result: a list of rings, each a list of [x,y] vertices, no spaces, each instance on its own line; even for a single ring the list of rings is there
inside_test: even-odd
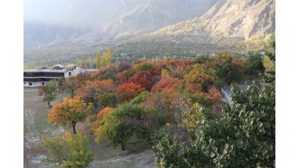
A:
[[[275,87],[270,86],[264,89],[253,82],[245,91],[233,87],[233,105],[223,108],[223,117],[200,122],[194,141],[179,145],[179,150],[169,145],[164,151],[159,147],[162,140],[174,139],[167,134],[159,137],[154,142],[157,161],[174,163],[172,167],[274,167]]]

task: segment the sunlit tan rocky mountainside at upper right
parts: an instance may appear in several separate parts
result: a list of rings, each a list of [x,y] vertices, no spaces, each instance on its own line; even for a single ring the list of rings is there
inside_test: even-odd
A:
[[[275,31],[275,0],[219,0],[200,17],[166,26],[149,39],[234,45]]]

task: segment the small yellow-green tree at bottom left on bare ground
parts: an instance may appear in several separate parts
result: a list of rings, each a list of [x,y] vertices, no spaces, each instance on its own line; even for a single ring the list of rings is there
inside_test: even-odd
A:
[[[88,167],[93,154],[88,145],[88,137],[71,135],[69,132],[55,136],[42,137],[42,147],[49,154],[43,163],[58,164],[59,167]]]

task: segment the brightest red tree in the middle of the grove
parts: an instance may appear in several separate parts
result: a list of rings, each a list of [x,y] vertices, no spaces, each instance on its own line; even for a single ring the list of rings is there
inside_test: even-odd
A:
[[[135,98],[135,96],[139,95],[144,90],[144,87],[141,85],[134,82],[129,82],[120,85],[116,90],[116,93],[119,94],[122,101],[129,101],[131,98]]]

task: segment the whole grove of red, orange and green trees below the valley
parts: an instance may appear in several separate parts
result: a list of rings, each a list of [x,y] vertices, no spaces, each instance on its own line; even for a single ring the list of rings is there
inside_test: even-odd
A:
[[[61,79],[59,90],[71,98],[51,107],[49,122],[70,124],[76,134],[76,124],[89,116],[96,142],[107,140],[126,150],[132,137],[146,141],[153,145],[161,167],[271,167],[275,163],[273,53],[242,60],[223,51],[215,57],[123,61],[116,66],[107,62],[103,66],[99,60],[97,71]],[[234,103],[225,105],[217,82],[229,85],[245,75],[265,79],[265,89],[257,83],[244,92],[233,87]],[[52,99],[55,92],[46,91],[51,85],[40,88],[49,105],[46,97]]]

